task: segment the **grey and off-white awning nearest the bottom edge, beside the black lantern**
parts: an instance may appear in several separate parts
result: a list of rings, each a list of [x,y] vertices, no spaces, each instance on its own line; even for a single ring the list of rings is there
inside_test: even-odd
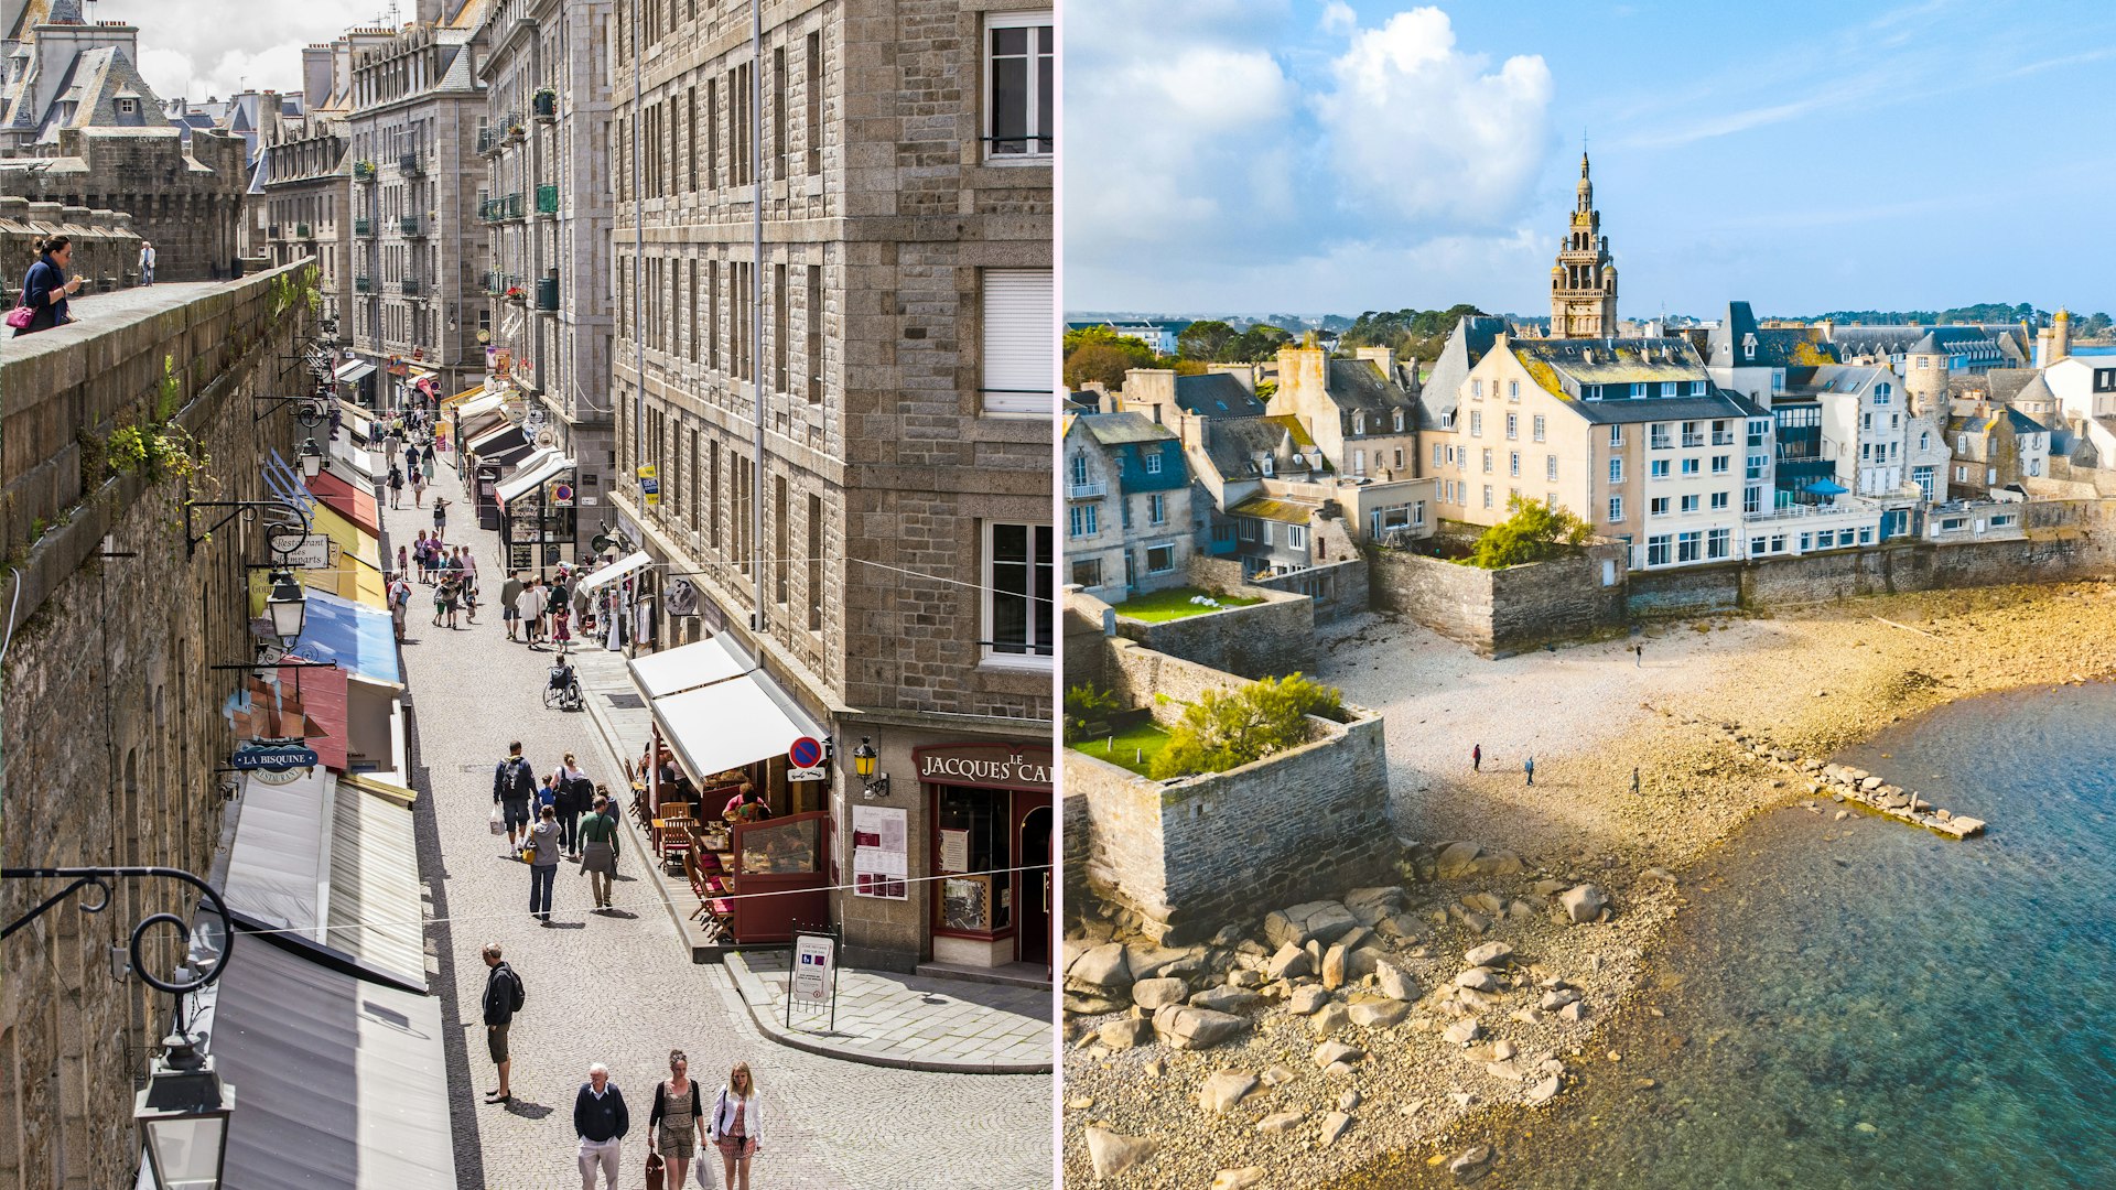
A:
[[[226,1186],[455,1190],[440,997],[267,938],[214,987],[205,1050],[237,1088]]]

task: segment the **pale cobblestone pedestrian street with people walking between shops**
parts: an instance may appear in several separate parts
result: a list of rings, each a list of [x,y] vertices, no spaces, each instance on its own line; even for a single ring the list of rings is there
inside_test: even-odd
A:
[[[546,711],[550,652],[506,639],[495,534],[476,529],[455,472],[442,464],[430,491],[449,495],[449,540],[478,557],[478,625],[432,627],[432,589],[415,584],[402,646],[411,686],[413,783],[430,940],[449,1023],[449,1086],[461,1190],[569,1190],[571,1103],[588,1063],[609,1065],[633,1129],[622,1186],[639,1186],[645,1120],[667,1054],[683,1048],[707,1095],[734,1061],[755,1071],[766,1105],[758,1188],[1026,1188],[1052,1177],[1052,1078],[927,1074],[861,1065],[774,1044],[758,1033],[730,976],[694,966],[667,906],[641,875],[639,836],[624,845],[618,910],[590,915],[586,879],[561,864],[552,925],[527,906],[529,872],[493,836],[491,773],[510,739],[535,771],[573,752],[595,781],[622,790],[616,758],[586,714]],[[432,506],[432,500],[427,500]],[[432,527],[432,508],[383,500],[385,555]],[[527,1004],[512,1029],[514,1103],[485,1105],[495,1086],[485,1054],[478,949],[499,942],[521,972]],[[709,1158],[719,1184],[717,1156]]]

